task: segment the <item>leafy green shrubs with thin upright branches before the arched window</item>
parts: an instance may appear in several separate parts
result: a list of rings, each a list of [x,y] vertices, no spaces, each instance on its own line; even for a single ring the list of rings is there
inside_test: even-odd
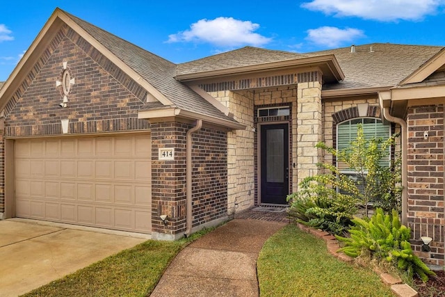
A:
[[[369,202],[387,213],[392,209],[400,212],[401,158],[397,156],[390,164],[382,162],[389,159],[389,147],[394,145],[395,138],[366,139],[362,125],[357,125],[357,138],[346,149],[335,150],[318,143],[316,147],[346,163],[357,180],[350,179],[331,163],[318,163],[325,173],[302,180],[299,191],[288,196],[290,213],[300,223],[341,234],[357,213],[357,205],[364,206],[366,216],[369,216]]]

